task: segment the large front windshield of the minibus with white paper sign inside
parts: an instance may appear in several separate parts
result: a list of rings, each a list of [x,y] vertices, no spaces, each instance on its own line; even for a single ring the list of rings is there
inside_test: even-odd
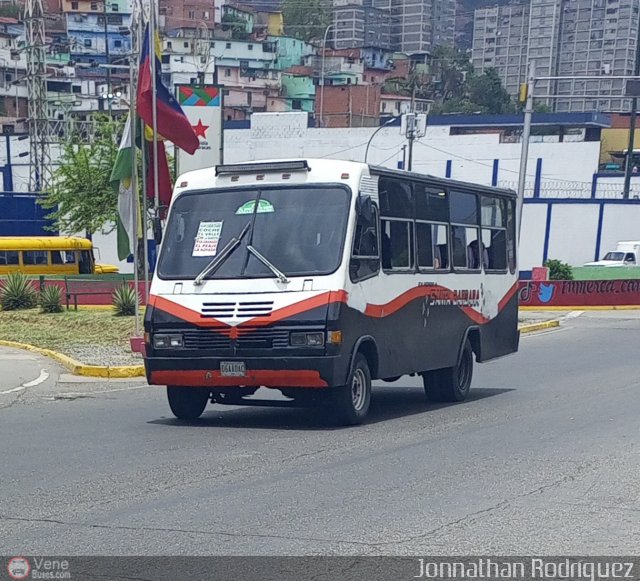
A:
[[[182,194],[171,209],[158,275],[195,279],[247,226],[205,279],[276,276],[255,251],[286,276],[330,274],[340,264],[349,200],[341,186]]]

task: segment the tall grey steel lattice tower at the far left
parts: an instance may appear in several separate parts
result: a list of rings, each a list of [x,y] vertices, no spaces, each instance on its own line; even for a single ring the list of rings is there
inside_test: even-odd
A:
[[[27,92],[29,98],[30,164],[29,189],[42,192],[50,185],[50,125],[47,106],[47,53],[42,0],[24,5],[27,41]]]

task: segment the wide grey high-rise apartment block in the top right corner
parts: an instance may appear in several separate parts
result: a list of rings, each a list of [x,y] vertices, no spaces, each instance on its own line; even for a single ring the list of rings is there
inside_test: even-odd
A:
[[[607,77],[633,74],[639,9],[638,0],[531,0],[476,10],[473,64],[495,68],[512,95],[530,62],[536,76],[602,76],[541,81],[535,94],[556,111],[625,111],[624,80]]]

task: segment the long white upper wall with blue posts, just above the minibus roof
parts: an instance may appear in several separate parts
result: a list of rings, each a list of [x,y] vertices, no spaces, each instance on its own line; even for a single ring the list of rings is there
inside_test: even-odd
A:
[[[289,136],[282,133],[269,114],[254,114],[251,129],[225,132],[225,159],[236,162],[275,155],[278,158],[328,157],[364,161],[366,146],[374,131],[375,128],[370,127],[309,128],[300,135]],[[501,143],[497,134],[452,136],[449,131],[449,127],[429,127],[425,137],[415,142],[415,171],[516,187],[519,143]],[[254,137],[256,134],[259,137]],[[397,167],[406,143],[399,127],[383,128],[371,141],[368,161]],[[534,194],[538,176],[541,197],[591,197],[593,175],[597,172],[600,156],[599,142],[532,143],[529,152],[529,196]],[[496,160],[497,171],[494,170]]]

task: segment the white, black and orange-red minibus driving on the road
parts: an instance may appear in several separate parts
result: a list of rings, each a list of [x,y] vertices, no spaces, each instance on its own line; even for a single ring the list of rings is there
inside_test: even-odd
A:
[[[328,159],[178,178],[145,318],[179,418],[279,389],[367,415],[371,381],[461,401],[518,348],[515,193]],[[273,402],[272,402],[273,403]],[[325,408],[326,409],[326,408]]]

